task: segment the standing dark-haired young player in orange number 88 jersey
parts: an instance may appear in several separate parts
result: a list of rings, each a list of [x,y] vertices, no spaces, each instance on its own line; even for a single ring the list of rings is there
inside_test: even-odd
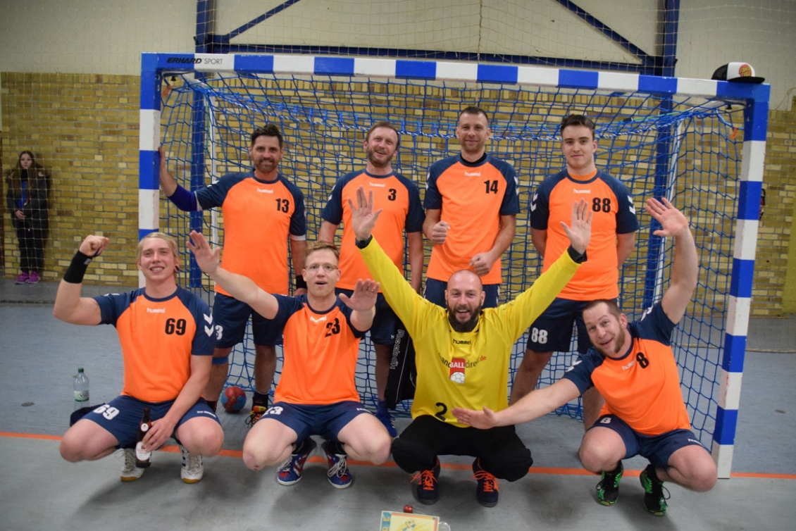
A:
[[[568,220],[572,201],[584,199],[594,214],[587,250],[589,261],[531,325],[525,357],[514,375],[512,403],[536,388],[554,351],[568,352],[573,322],[578,330],[579,353],[591,346],[583,326],[583,306],[591,300],[618,297],[618,267],[633,251],[638,231],[633,199],[625,185],[595,166],[594,122],[583,115],[568,115],[562,120],[560,131],[567,168],[545,179],[533,193],[531,240],[544,258],[542,271],[546,271],[569,244],[559,222]],[[583,396],[586,429],[597,420],[602,404],[595,390]]]

